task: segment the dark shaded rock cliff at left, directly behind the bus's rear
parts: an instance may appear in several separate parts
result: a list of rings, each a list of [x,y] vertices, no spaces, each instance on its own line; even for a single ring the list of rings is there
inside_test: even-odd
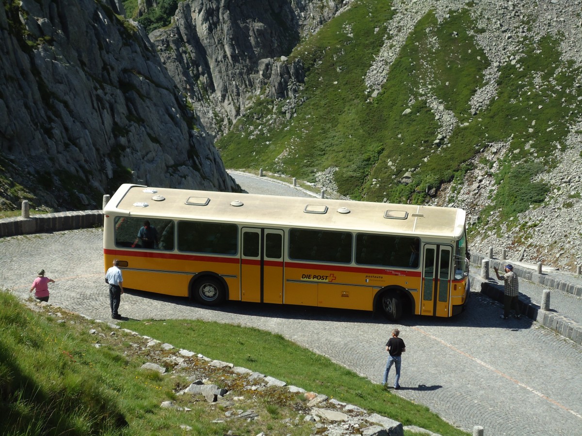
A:
[[[200,118],[120,2],[0,9],[0,207],[92,208],[119,183],[232,191]]]

